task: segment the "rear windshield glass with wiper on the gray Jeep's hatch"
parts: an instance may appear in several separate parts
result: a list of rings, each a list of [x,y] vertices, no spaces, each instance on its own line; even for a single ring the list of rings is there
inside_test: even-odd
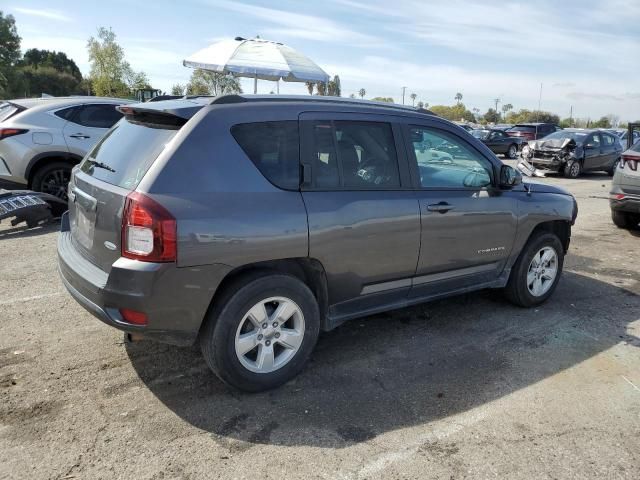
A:
[[[80,165],[87,175],[135,189],[177,129],[155,128],[122,120],[102,137]]]

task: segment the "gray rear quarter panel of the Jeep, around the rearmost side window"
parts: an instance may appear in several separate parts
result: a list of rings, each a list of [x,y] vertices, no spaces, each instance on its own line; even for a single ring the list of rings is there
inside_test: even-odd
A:
[[[231,267],[309,253],[298,191],[272,185],[230,133],[237,123],[295,120],[297,112],[216,105],[176,136],[138,186],[178,221],[178,266]]]

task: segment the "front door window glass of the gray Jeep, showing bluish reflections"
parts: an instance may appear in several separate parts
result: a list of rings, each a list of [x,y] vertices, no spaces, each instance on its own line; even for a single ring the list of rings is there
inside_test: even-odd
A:
[[[491,162],[461,138],[412,126],[410,139],[422,187],[478,189],[491,184]]]

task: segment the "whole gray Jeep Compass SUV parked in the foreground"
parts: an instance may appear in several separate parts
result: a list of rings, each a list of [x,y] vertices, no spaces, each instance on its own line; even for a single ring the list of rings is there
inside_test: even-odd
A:
[[[198,341],[237,388],[292,378],[351,318],[482,288],[530,307],[560,278],[573,197],[427,111],[273,95],[120,111],[72,173],[62,280],[132,338]]]

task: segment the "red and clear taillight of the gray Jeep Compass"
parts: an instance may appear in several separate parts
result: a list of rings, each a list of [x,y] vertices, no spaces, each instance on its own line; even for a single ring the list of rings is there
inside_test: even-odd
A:
[[[176,261],[175,218],[139,193],[127,196],[122,215],[122,256],[144,262]]]

